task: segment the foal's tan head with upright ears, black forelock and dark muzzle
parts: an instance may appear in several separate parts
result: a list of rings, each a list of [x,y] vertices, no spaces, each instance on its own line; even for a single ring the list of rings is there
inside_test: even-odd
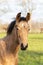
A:
[[[16,30],[21,50],[26,50],[28,47],[27,36],[30,30],[28,20],[30,20],[30,13],[27,13],[26,17],[21,17],[21,13],[16,16]]]

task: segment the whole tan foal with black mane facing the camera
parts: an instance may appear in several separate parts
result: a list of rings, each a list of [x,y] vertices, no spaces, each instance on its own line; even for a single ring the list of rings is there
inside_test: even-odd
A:
[[[0,65],[18,65],[18,50],[26,50],[28,47],[28,20],[30,13],[26,17],[21,17],[18,13],[7,30],[7,35],[0,39]]]

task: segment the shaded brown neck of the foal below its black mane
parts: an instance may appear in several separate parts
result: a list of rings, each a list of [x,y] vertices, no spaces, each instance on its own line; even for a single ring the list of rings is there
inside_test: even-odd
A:
[[[9,47],[8,50],[10,50],[10,52],[16,54],[18,52],[18,49],[19,49],[16,28],[14,28],[12,33],[10,35],[7,35],[4,38],[4,40],[5,40],[6,44],[7,44],[7,46]]]

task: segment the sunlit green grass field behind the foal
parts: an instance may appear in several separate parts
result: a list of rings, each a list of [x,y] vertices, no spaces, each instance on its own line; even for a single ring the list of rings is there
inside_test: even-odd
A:
[[[6,34],[1,33],[0,38]],[[28,35],[28,49],[19,51],[18,65],[43,65],[43,34]]]

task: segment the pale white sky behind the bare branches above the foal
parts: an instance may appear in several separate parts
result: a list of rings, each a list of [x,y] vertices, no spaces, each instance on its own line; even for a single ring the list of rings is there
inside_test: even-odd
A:
[[[28,7],[32,7],[33,4],[27,4],[28,0],[25,0],[25,6],[22,5],[23,0],[0,0],[0,20],[3,23],[10,22],[16,16],[18,12],[22,12],[24,16],[28,12]],[[35,21],[43,20],[43,0],[31,0],[35,6],[32,11],[31,19]],[[3,13],[4,11],[4,13]]]

